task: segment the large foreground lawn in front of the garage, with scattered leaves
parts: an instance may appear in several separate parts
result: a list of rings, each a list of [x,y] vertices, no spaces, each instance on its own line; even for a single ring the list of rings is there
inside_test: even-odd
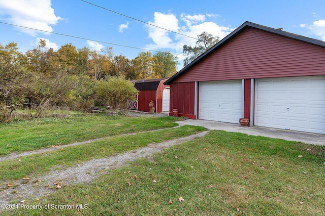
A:
[[[325,215],[325,147],[223,131],[4,215]],[[181,199],[182,198],[182,199]],[[25,203],[27,204],[27,203]],[[60,206],[61,205],[61,206]],[[84,206],[85,207],[85,206]]]

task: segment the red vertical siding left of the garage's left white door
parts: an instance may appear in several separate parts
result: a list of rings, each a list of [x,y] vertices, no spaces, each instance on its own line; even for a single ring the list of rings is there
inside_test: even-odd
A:
[[[178,109],[180,116],[195,119],[194,98],[195,82],[180,82],[171,84],[170,115],[173,109]]]

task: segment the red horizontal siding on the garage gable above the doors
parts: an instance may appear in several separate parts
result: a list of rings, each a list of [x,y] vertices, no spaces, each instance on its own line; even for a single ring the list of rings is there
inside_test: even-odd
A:
[[[325,75],[325,49],[247,28],[174,82]]]

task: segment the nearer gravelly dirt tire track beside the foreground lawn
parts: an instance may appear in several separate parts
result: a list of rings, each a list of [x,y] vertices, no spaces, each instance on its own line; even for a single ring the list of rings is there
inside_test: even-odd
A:
[[[15,187],[4,187],[0,189],[0,203],[8,204],[10,202],[21,202],[23,200],[37,199],[57,191],[57,185],[66,187],[78,183],[90,183],[104,174],[107,169],[114,169],[126,165],[137,158],[143,157],[151,159],[153,153],[161,152],[171,146],[190,141],[195,138],[203,137],[208,131],[177,138],[166,142],[149,144],[147,147],[135,149],[129,152],[117,154],[114,156],[92,159],[87,162],[77,164],[65,169],[56,169],[47,175],[26,180],[16,180],[12,184]],[[86,141],[90,142],[90,141]],[[84,144],[85,142],[80,142]]]

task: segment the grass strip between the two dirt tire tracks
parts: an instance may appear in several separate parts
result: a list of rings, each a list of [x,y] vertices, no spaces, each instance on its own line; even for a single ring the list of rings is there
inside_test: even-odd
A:
[[[93,158],[107,157],[144,147],[149,143],[160,143],[205,130],[204,127],[185,125],[137,135],[112,136],[90,144],[64,147],[61,150],[24,156],[20,157],[19,160],[7,160],[0,162],[0,180],[8,182],[26,176],[31,177],[31,175],[43,174],[54,166],[67,167]]]

